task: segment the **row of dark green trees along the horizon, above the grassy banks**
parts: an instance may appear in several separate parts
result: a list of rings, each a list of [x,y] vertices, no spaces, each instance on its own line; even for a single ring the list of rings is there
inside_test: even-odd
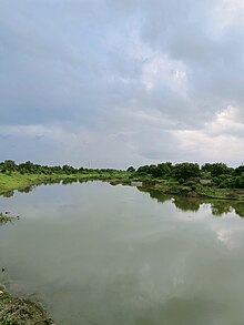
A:
[[[230,167],[222,162],[205,163],[200,166],[197,163],[177,163],[164,162],[152,165],[143,165],[138,169],[133,166],[125,171],[114,169],[85,169],[83,166],[75,169],[71,165],[48,166],[34,164],[30,161],[16,163],[12,160],[6,160],[0,163],[0,172],[19,172],[21,174],[123,174],[129,179],[136,180],[173,180],[180,184],[187,182],[199,182],[209,186],[220,189],[244,189],[244,165]]]

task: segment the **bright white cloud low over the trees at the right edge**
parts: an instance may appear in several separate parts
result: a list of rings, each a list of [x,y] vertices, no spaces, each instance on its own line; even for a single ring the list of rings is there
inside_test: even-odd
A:
[[[236,134],[235,134],[236,133]],[[241,135],[240,135],[241,134]],[[200,130],[177,130],[181,150],[201,162],[223,161],[241,164],[244,155],[244,123],[238,121],[238,109],[228,105]]]

